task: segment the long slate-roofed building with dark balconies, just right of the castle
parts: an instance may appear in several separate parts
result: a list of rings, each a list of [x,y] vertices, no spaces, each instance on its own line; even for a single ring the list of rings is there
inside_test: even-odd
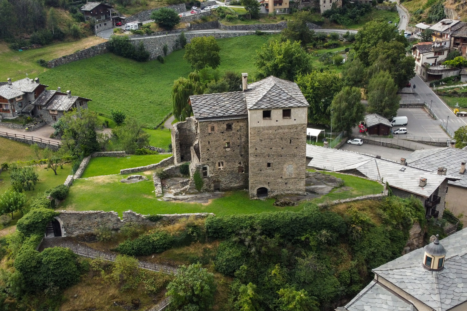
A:
[[[439,150],[439,149],[436,149]],[[359,175],[388,183],[394,195],[415,196],[425,206],[426,219],[441,218],[446,201],[448,182],[460,180],[457,176],[438,174],[416,166],[406,165],[406,159],[394,162],[345,150],[306,145],[308,167],[318,170]]]

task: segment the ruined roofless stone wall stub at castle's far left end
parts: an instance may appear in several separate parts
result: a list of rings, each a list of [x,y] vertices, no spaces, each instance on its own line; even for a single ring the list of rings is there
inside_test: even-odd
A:
[[[179,164],[191,160],[190,147],[198,139],[197,121],[189,117],[184,122],[177,122],[172,129],[172,152],[174,163]]]

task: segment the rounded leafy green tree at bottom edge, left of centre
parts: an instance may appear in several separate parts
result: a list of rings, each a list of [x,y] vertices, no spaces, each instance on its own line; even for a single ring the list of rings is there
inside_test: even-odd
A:
[[[166,296],[177,310],[210,310],[214,302],[214,275],[200,263],[181,266],[167,285]]]

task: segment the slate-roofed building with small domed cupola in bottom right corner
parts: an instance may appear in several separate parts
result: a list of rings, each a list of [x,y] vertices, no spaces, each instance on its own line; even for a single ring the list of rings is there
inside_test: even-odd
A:
[[[375,278],[336,311],[467,310],[467,228],[373,269]]]

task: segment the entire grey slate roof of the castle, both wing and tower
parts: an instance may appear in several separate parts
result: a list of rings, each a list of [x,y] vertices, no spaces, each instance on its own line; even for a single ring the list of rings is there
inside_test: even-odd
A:
[[[308,107],[297,83],[269,76],[248,84],[245,92],[190,96],[195,118],[229,117],[247,114],[247,109]]]

